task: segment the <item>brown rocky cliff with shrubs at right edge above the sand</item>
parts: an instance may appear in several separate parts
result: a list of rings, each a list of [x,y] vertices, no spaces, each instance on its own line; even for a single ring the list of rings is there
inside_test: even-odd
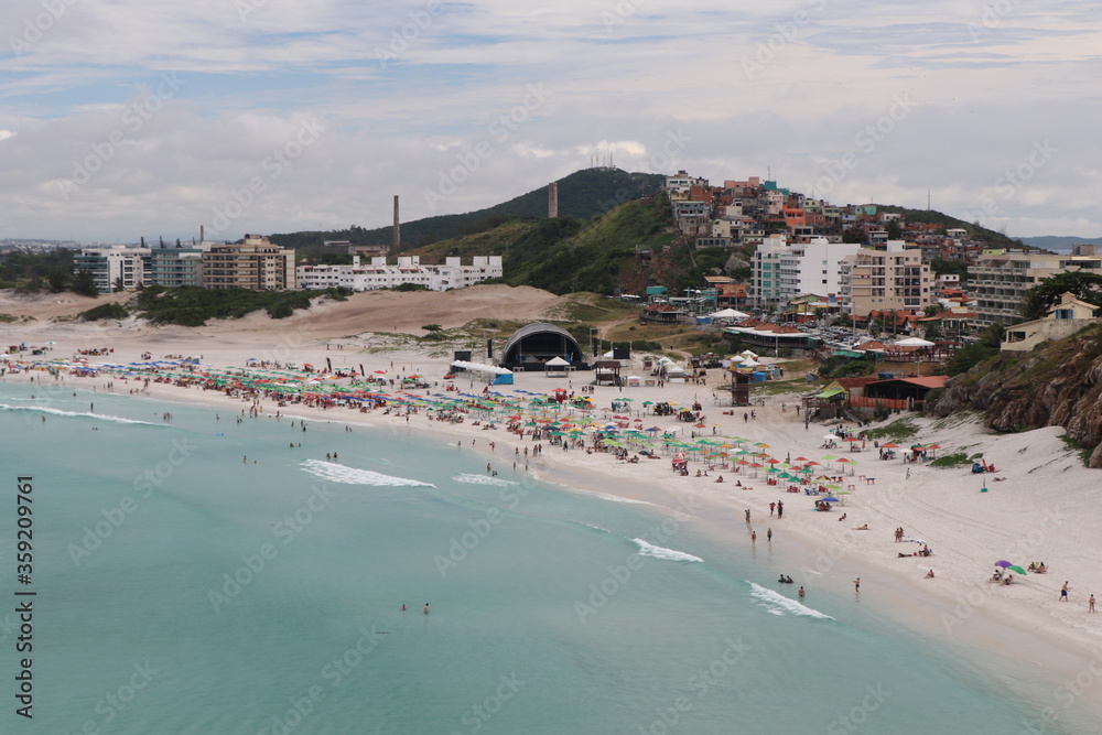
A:
[[[1001,353],[951,378],[927,407],[939,417],[964,409],[984,411],[986,425],[1001,432],[1063,426],[1093,450],[1089,466],[1102,467],[1102,327],[1029,353]]]

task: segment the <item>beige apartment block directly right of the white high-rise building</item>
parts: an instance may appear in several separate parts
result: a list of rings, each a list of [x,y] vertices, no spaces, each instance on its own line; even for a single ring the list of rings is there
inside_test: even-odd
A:
[[[873,311],[916,310],[930,302],[930,267],[922,252],[888,240],[884,250],[861,249],[840,266],[843,311],[865,316]]]

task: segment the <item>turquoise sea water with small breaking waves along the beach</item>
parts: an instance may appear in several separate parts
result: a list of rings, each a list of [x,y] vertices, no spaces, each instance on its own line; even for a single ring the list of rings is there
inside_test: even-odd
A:
[[[400,422],[302,432],[173,404],[166,425],[147,400],[23,385],[0,385],[0,733],[1038,722],[852,596],[798,604],[776,559],[663,528],[645,505],[515,483],[511,457],[487,477],[484,455]],[[30,585],[15,581],[19,476],[33,477]],[[15,714],[17,590],[37,593],[33,720]]]

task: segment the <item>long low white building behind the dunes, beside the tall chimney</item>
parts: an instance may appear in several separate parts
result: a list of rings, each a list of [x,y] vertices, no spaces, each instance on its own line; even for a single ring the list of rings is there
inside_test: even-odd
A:
[[[353,256],[352,266],[299,266],[296,272],[300,289],[345,287],[353,291],[391,289],[403,283],[447,291],[503,275],[501,256],[474,256],[469,266],[462,264],[457,257],[445,258],[443,264],[422,264],[420,256],[400,256],[391,266],[385,257],[364,263],[359,256]]]

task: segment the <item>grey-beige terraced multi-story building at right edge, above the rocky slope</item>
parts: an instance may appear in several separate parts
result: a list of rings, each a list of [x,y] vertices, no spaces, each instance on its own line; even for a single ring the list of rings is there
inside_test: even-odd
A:
[[[1003,252],[984,255],[969,269],[969,288],[974,298],[976,323],[1008,324],[1020,315],[1026,291],[1042,278],[1067,271],[1102,270],[1102,256],[1093,245],[1079,245],[1070,255]]]

